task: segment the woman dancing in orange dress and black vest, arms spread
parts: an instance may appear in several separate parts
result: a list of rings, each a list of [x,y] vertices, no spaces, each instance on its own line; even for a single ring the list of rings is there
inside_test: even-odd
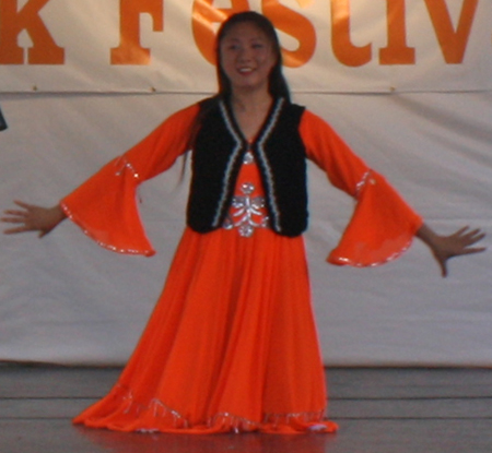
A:
[[[244,12],[218,34],[219,93],[166,119],[51,208],[16,202],[5,233],[65,218],[99,245],[154,253],[136,189],[191,154],[187,226],[164,290],[122,374],[75,424],[121,431],[335,432],[302,234],[306,158],[356,200],[329,262],[387,262],[417,235],[447,260],[480,230],[440,236],[309,110],[292,104],[272,24]]]

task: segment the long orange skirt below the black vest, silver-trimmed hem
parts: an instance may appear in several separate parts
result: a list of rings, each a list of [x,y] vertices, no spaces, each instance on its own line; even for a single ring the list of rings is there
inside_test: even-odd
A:
[[[73,421],[120,431],[333,432],[326,404],[303,238],[187,228],[121,377]]]

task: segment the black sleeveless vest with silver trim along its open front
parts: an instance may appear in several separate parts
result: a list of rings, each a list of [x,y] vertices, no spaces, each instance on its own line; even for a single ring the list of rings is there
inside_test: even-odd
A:
[[[270,227],[295,237],[307,227],[306,153],[298,124],[304,107],[278,98],[249,144],[227,103],[206,100],[195,138],[187,224],[198,233],[220,228],[231,206],[244,154],[259,167]],[[207,107],[203,107],[207,106]]]

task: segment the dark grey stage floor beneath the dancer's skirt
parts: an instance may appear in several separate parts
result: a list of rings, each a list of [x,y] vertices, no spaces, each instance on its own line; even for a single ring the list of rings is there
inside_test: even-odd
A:
[[[1,453],[491,453],[492,370],[328,370],[337,434],[138,434],[73,427],[119,369],[0,365]]]

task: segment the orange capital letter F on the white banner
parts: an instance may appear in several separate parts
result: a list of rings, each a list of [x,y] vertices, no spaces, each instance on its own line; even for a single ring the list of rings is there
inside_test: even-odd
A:
[[[150,49],[140,45],[140,14],[153,20],[153,31],[164,31],[164,0],[119,0],[120,44],[112,49],[112,64],[149,64]]]

